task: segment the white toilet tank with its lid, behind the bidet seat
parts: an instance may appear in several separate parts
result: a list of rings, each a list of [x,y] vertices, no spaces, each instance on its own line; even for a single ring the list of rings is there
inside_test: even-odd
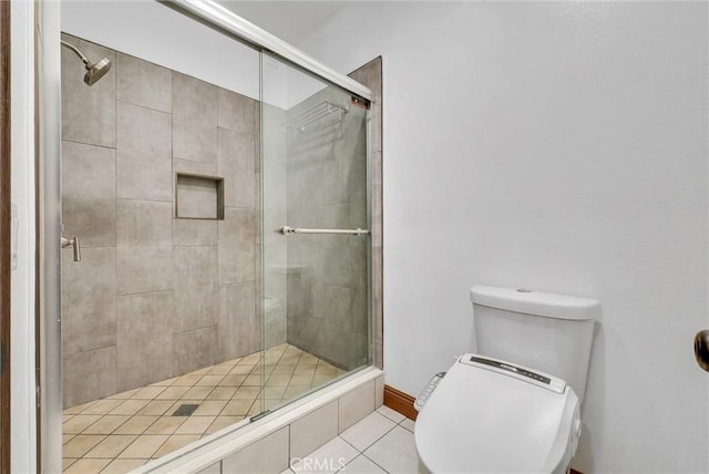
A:
[[[486,286],[470,299],[477,353],[564,379],[584,400],[599,301]]]

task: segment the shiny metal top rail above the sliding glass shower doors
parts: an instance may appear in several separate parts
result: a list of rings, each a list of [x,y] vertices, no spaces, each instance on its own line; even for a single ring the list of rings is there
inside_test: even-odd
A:
[[[323,64],[318,62],[315,58],[309,56],[302,51],[294,48],[278,37],[273,35],[266,30],[263,30],[250,23],[243,18],[238,17],[234,12],[227,10],[220,4],[215,3],[212,0],[173,0],[174,4],[183,10],[186,10],[199,18],[207,20],[208,22],[216,24],[224,30],[236,34],[244,41],[257,47],[263,47],[279,56],[290,61],[294,64],[299,65],[316,75],[339,85],[342,89],[348,90],[368,101],[372,100],[372,93],[369,87],[360,84],[351,78],[341,74]]]

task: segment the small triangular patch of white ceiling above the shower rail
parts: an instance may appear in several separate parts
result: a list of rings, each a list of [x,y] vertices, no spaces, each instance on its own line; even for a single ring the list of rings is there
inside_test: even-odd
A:
[[[217,1],[291,44],[305,40],[347,6],[345,1]]]

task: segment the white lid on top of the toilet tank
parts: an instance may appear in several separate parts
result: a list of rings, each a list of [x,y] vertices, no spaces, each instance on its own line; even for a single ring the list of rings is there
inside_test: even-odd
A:
[[[556,319],[586,320],[600,313],[600,301],[525,289],[475,285],[470,289],[475,305]]]

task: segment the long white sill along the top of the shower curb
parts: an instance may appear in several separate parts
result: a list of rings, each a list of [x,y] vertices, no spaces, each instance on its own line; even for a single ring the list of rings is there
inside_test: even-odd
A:
[[[248,419],[246,419],[131,471],[131,474],[197,473],[267,434],[287,426],[302,415],[376,380],[383,373],[374,367],[368,367],[258,421],[248,423]]]

